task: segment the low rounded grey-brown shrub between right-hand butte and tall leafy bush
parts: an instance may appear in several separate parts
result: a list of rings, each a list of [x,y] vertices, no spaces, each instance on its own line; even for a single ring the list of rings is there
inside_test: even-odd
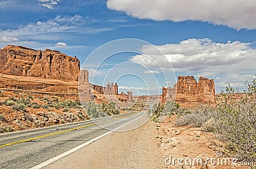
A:
[[[216,111],[207,107],[195,108],[184,112],[184,115],[177,117],[174,126],[190,126],[193,128],[200,128],[211,118],[216,118]]]

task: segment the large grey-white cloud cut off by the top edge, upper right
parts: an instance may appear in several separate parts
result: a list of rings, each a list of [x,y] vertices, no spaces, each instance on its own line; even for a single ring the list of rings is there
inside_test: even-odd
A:
[[[256,28],[255,0],[108,0],[107,6],[141,19],[173,22],[200,20],[234,29]]]

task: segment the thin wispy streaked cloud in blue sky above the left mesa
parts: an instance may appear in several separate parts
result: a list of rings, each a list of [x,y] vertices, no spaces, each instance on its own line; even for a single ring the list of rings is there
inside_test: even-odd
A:
[[[15,29],[0,30],[0,46],[8,45],[8,39],[4,37],[15,37],[19,40],[19,45],[22,45],[22,41],[38,42],[41,40],[52,41],[53,39],[61,41],[63,38],[72,38],[71,36],[76,33],[94,34],[113,30],[106,27],[90,27],[88,21],[90,21],[90,18],[81,17],[80,15],[58,15],[49,20],[38,20],[15,27]],[[24,45],[26,44],[24,43]]]

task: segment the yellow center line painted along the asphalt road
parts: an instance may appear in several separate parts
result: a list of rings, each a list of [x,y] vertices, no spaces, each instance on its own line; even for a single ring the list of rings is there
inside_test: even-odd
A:
[[[117,119],[123,119],[124,117],[128,117],[128,116],[131,116],[131,115],[134,115],[136,113],[133,113],[133,114],[129,114],[129,115],[124,115],[122,117],[117,117]],[[116,118],[114,119],[110,119],[108,121],[113,121],[115,120]],[[3,145],[0,145],[0,148],[2,147],[7,147],[7,146],[10,146],[10,145],[15,145],[15,144],[18,144],[18,143],[24,143],[24,142],[29,142],[31,140],[36,140],[36,139],[39,139],[39,138],[45,138],[47,136],[53,136],[53,135],[58,135],[58,134],[61,134],[61,133],[66,133],[68,131],[74,131],[76,129],[81,129],[81,128],[87,128],[89,126],[94,126],[96,124],[101,124],[101,123],[104,123],[104,122],[108,122],[108,121],[102,121],[102,122],[98,122],[98,123],[92,123],[92,124],[88,124],[86,126],[80,126],[80,127],[77,127],[77,128],[72,128],[72,129],[66,129],[66,130],[63,130],[63,131],[58,131],[56,133],[51,133],[51,134],[48,134],[48,135],[42,135],[42,136],[36,136],[36,137],[33,137],[33,138],[28,138],[26,140],[20,140],[20,141],[17,141],[17,142],[12,142],[12,143],[6,143],[6,144],[3,144]]]

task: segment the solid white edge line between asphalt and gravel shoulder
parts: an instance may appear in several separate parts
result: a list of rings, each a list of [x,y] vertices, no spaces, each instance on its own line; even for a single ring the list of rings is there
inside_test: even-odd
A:
[[[144,113],[143,113],[140,117],[142,117],[143,115],[144,115]],[[77,151],[77,150],[79,150],[79,149],[85,147],[86,145],[89,145],[90,143],[95,142],[96,140],[99,140],[100,138],[102,138],[102,137],[104,137],[104,136],[106,136],[106,135],[109,135],[110,133],[113,133],[113,132],[116,131],[117,129],[120,129],[120,128],[126,126],[127,124],[130,124],[131,122],[136,121],[136,120],[139,119],[140,117],[138,117],[138,118],[136,118],[136,119],[134,119],[134,120],[132,120],[132,121],[130,121],[130,122],[127,122],[127,123],[124,124],[123,126],[120,126],[120,127],[118,127],[118,128],[115,128],[115,129],[109,131],[108,133],[105,133],[105,134],[103,134],[103,135],[97,136],[96,138],[93,138],[92,140],[90,140],[90,141],[88,141],[88,142],[86,142],[86,143],[83,143],[83,144],[81,144],[81,145],[78,145],[77,147],[75,147],[75,148],[73,148],[73,149],[71,149],[71,150],[69,150],[69,151],[63,152],[62,154],[60,154],[60,155],[58,155],[58,156],[55,156],[54,158],[48,159],[47,161],[44,161],[43,163],[40,163],[39,165],[33,166],[32,168],[29,168],[29,169],[40,169],[40,168],[43,168],[44,166],[47,166],[47,165],[53,163],[54,161],[57,161],[58,159],[61,159],[61,158],[65,157],[65,156],[67,156],[68,154],[71,154],[72,152],[75,152],[75,151]]]

